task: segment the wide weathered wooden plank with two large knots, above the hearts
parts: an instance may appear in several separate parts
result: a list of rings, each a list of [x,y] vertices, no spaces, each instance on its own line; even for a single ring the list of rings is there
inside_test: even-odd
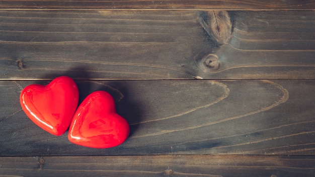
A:
[[[314,26],[313,11],[0,11],[0,79],[314,79]]]

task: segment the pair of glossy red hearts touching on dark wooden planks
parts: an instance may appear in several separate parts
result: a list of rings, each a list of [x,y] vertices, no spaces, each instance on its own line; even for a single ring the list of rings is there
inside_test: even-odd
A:
[[[48,85],[26,86],[20,103],[26,115],[40,128],[62,135],[68,128],[70,142],[86,147],[110,148],[123,143],[129,124],[116,113],[113,97],[96,91],[78,104],[78,88],[67,76],[53,79]]]

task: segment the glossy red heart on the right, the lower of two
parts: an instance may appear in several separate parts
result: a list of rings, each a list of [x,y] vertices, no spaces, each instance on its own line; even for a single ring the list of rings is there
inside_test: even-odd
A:
[[[110,148],[129,135],[128,122],[116,113],[113,97],[105,91],[90,94],[77,108],[68,139],[86,147]]]

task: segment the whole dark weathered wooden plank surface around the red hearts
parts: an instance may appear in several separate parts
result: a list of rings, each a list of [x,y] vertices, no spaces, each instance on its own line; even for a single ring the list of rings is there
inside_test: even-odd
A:
[[[0,1],[0,177],[315,176],[315,1]],[[30,121],[67,75],[130,124],[109,149]]]

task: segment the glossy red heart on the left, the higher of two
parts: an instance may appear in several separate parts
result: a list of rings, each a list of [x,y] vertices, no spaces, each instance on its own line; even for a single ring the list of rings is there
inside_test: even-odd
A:
[[[26,86],[20,103],[26,115],[40,128],[62,135],[69,127],[78,104],[78,88],[67,76],[53,79],[48,85]]]

